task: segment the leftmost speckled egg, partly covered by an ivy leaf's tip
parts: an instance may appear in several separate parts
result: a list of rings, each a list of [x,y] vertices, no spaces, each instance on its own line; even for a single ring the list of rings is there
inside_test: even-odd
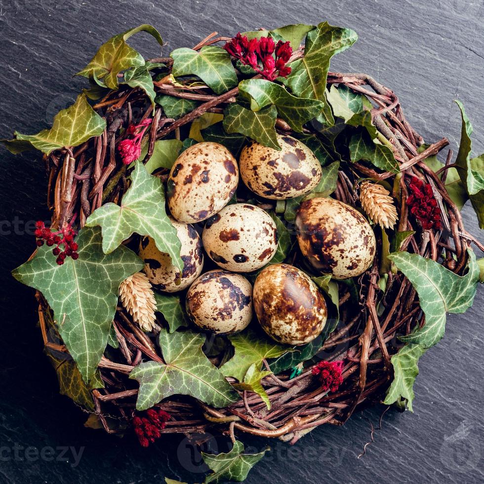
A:
[[[144,260],[144,273],[152,284],[162,291],[177,292],[187,288],[202,273],[203,250],[202,241],[192,225],[182,224],[170,218],[176,229],[176,235],[181,242],[180,256],[183,260],[183,270],[180,284],[180,271],[171,263],[170,256],[158,250],[151,237],[141,239],[139,256]]]

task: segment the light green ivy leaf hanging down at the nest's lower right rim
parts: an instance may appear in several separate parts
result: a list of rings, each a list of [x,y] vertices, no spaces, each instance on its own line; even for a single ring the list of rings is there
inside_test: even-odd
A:
[[[392,356],[395,376],[383,403],[391,405],[403,399],[408,409],[413,412],[412,402],[415,397],[413,384],[418,375],[417,363],[425,351],[422,345],[408,344]]]

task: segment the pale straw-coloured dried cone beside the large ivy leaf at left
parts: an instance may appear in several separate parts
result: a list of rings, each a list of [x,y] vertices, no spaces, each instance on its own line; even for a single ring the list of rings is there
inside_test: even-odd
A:
[[[141,329],[151,331],[155,327],[156,301],[150,281],[138,272],[120,285],[122,305]]]

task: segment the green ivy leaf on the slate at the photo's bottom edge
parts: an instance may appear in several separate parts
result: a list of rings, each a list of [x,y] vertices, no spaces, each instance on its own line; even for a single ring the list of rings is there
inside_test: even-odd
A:
[[[269,449],[265,448],[258,454],[244,454],[243,450],[242,442],[236,441],[232,450],[226,454],[214,455],[202,452],[203,461],[213,471],[206,477],[205,484],[221,481],[236,481],[238,483],[245,481],[250,469],[264,457]]]

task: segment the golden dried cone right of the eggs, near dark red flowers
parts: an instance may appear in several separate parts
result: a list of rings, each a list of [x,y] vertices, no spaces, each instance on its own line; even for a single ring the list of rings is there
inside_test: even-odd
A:
[[[393,229],[397,221],[397,209],[390,192],[381,185],[365,181],[360,186],[360,202],[373,222],[386,229]]]

